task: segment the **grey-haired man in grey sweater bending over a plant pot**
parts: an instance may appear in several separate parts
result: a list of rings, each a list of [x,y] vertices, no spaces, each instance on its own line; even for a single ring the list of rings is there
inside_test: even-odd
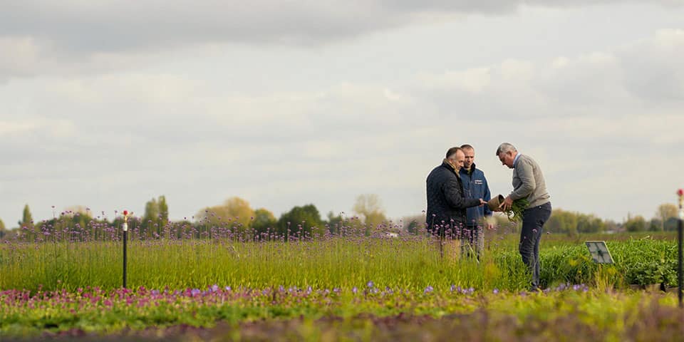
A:
[[[532,291],[539,290],[539,240],[544,223],[551,217],[551,200],[546,191],[541,168],[531,157],[518,153],[516,148],[504,142],[497,148],[502,165],[513,169],[513,192],[499,206],[508,210],[514,200],[527,199],[529,206],[522,212],[519,252],[522,261],[532,273]]]

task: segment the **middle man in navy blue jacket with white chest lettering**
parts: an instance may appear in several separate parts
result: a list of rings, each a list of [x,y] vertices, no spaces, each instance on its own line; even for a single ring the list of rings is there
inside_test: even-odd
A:
[[[461,150],[465,153],[465,162],[459,170],[463,182],[463,192],[466,198],[482,198],[489,201],[492,195],[489,193],[489,185],[484,172],[475,167],[475,148],[471,145],[462,145]],[[486,205],[483,207],[470,207],[466,211],[466,229],[461,232],[461,252],[465,255],[475,256],[480,260],[484,252],[483,227],[492,229],[493,224],[488,218],[492,211]]]

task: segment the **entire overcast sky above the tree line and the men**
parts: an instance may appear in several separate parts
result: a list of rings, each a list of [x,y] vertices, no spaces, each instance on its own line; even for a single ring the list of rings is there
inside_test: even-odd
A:
[[[618,222],[684,187],[684,0],[1,2],[7,227],[160,195],[399,219],[464,143],[493,194],[510,142],[554,208]]]

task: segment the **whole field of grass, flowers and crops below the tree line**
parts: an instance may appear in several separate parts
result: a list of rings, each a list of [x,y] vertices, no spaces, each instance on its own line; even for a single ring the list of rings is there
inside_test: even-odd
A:
[[[427,234],[346,227],[288,239],[217,229],[131,232],[128,289],[113,227],[36,229],[0,244],[0,336],[264,341],[681,341],[673,236],[544,235],[541,293],[516,234],[487,235],[480,261]],[[46,234],[47,233],[47,234]],[[634,286],[633,286],[634,287]]]

